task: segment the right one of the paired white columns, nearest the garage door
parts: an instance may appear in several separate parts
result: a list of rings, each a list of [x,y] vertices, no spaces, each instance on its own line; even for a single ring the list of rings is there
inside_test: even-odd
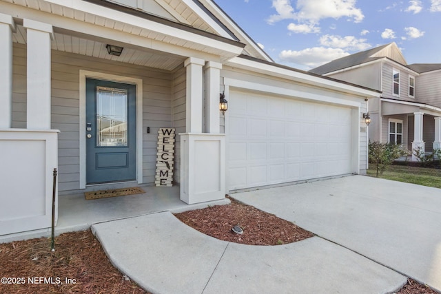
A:
[[[207,62],[205,69],[205,132],[220,133],[219,94],[221,63]]]

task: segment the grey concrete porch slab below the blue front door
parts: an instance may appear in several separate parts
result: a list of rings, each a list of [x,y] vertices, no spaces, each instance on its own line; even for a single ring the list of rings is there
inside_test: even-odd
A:
[[[121,220],[152,213],[171,211],[178,213],[207,206],[228,204],[229,200],[214,200],[198,204],[186,204],[179,198],[179,186],[143,186],[143,194],[85,200],[84,193],[59,196],[59,217],[55,234],[89,229],[92,224]],[[0,243],[31,238],[50,237],[51,228],[0,235]]]

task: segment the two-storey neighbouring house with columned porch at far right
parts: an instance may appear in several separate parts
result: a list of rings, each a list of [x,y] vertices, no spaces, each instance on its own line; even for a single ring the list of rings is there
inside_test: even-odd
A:
[[[441,148],[441,64],[408,65],[396,43],[389,43],[309,72],[382,92],[369,100],[369,140],[426,152]]]

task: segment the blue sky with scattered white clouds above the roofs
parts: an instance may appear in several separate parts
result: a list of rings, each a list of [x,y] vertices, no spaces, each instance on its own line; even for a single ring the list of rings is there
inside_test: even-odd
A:
[[[214,0],[274,61],[309,70],[391,42],[441,63],[441,0]]]

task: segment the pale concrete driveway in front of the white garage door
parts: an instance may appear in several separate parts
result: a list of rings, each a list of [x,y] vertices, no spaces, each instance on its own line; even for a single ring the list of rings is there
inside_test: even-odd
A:
[[[441,189],[348,176],[232,197],[441,291]]]

